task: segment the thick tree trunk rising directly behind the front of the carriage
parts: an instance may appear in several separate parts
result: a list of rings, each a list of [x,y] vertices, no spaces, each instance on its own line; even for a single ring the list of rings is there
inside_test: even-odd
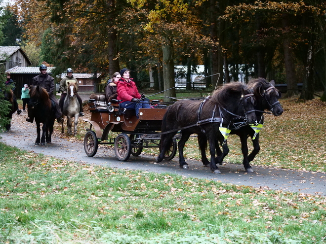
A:
[[[174,82],[174,63],[173,63],[173,43],[167,37],[164,38],[165,42],[162,45],[163,51],[163,81],[164,81],[164,102],[172,102],[176,98]]]

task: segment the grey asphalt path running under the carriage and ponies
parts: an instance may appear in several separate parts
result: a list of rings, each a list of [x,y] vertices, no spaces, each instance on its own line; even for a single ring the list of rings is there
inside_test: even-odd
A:
[[[18,118],[17,116],[20,117]],[[138,157],[130,156],[126,162],[121,162],[116,159],[113,149],[101,147],[101,145],[95,157],[87,157],[82,142],[71,142],[60,136],[52,137],[51,144],[35,145],[36,125],[35,123],[32,125],[26,122],[26,117],[27,112],[23,112],[21,115],[15,113],[13,115],[11,131],[2,133],[0,141],[23,150],[78,163],[155,173],[166,172],[180,174],[185,177],[205,178],[255,188],[261,187],[264,189],[269,188],[326,196],[326,174],[324,173],[266,168],[255,166],[253,162],[251,166],[254,173],[246,173],[243,165],[226,163],[218,165],[221,174],[212,174],[209,168],[204,167],[201,161],[196,160],[187,160],[190,169],[181,169],[178,158],[156,163],[156,156],[143,154]],[[59,133],[56,133],[56,135],[59,135]]]

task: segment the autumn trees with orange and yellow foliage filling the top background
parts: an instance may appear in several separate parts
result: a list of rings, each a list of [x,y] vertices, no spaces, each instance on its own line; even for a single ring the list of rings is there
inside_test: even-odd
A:
[[[40,62],[56,72],[113,74],[127,67],[137,80],[158,67],[168,89],[174,65],[205,64],[205,75],[221,74],[219,84],[242,72],[287,83],[288,96],[305,83],[303,99],[321,87],[326,100],[321,0],[16,0],[13,9],[25,38],[41,46]]]

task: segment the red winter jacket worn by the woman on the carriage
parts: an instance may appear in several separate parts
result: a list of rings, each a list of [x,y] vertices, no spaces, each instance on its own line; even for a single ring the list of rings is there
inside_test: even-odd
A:
[[[130,82],[127,82],[125,79],[120,78],[117,84],[118,100],[122,100],[121,103],[126,101],[131,101],[133,98],[140,99],[141,95],[138,92],[136,83],[130,79]]]

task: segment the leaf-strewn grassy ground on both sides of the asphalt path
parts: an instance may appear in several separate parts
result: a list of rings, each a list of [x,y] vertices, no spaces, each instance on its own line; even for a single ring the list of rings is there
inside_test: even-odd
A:
[[[281,103],[283,115],[266,116],[261,152],[252,165],[325,172],[325,103],[295,99]],[[75,138],[59,134],[56,127],[57,135],[82,141],[88,125],[80,120]],[[232,136],[229,145],[226,161],[241,163],[238,138]],[[325,197],[81,165],[0,147],[1,243],[322,244],[326,240]],[[196,143],[188,143],[187,156],[197,154]]]

